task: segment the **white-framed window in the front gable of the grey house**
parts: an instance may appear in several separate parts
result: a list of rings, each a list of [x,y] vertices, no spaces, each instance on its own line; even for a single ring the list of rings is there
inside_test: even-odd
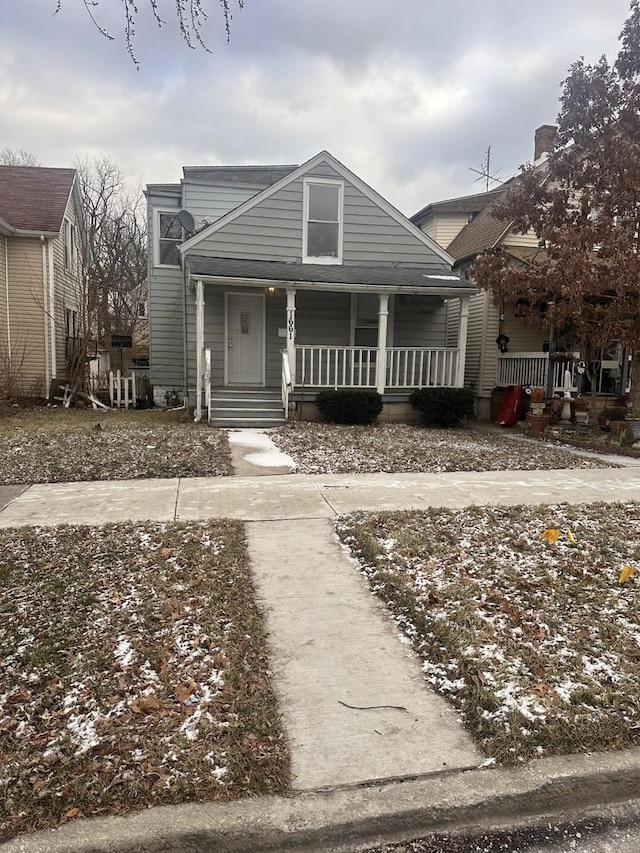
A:
[[[305,180],[302,260],[305,263],[342,263],[344,184]]]

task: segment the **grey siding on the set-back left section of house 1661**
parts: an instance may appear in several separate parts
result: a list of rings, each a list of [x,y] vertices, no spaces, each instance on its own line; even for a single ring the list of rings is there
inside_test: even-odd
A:
[[[180,210],[180,199],[149,195],[149,363],[152,385],[184,387],[184,277],[180,267],[154,266],[155,208]],[[193,297],[191,298],[193,302]]]

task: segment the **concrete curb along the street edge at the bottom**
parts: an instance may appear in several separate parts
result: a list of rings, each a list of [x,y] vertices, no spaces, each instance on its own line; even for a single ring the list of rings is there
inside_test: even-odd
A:
[[[159,806],[21,836],[2,853],[352,853],[603,814],[640,798],[640,749],[232,803]],[[637,807],[637,804],[636,804]]]

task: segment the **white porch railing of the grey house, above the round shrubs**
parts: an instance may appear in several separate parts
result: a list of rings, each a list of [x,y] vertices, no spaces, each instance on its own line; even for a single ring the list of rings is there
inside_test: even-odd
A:
[[[385,388],[455,387],[458,350],[388,347]],[[296,386],[376,388],[376,347],[296,346]]]

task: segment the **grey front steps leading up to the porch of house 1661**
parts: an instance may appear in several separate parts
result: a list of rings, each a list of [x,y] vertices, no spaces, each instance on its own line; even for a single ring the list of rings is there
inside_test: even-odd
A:
[[[266,429],[284,422],[279,389],[214,388],[211,391],[211,426]]]

